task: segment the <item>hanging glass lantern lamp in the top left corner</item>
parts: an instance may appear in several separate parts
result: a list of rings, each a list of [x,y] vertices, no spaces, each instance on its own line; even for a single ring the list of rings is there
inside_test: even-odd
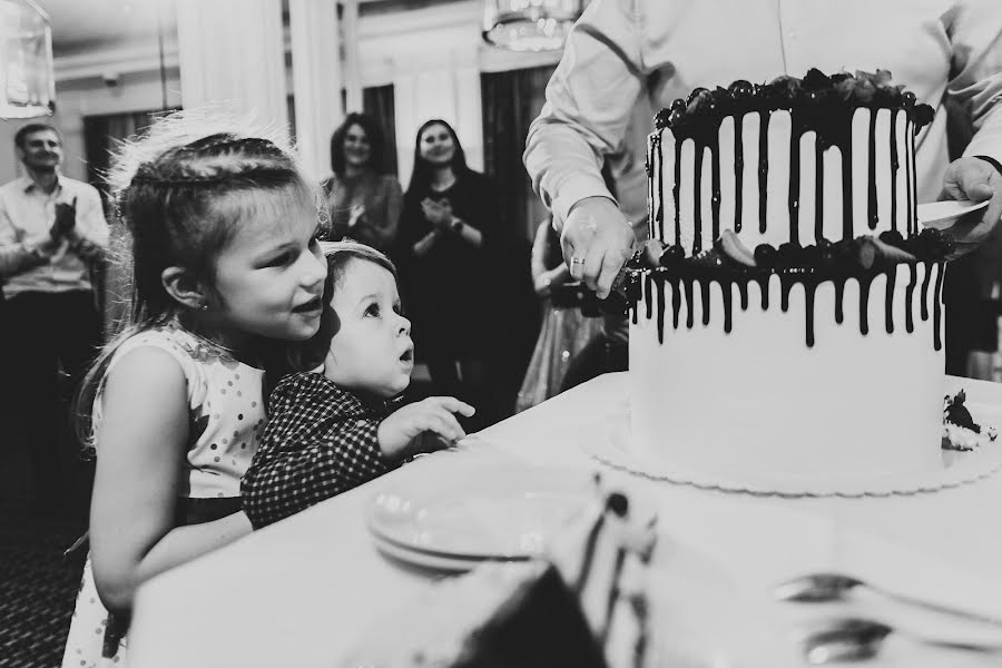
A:
[[[52,30],[32,0],[0,0],[0,118],[52,114]]]

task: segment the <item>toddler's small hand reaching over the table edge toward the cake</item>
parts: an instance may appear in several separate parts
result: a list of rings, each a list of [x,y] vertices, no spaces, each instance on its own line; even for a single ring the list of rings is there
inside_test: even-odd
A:
[[[380,423],[380,450],[392,460],[452,445],[466,435],[454,413],[465,418],[474,409],[452,396],[429,396],[407,404]],[[434,436],[426,438],[424,434]]]

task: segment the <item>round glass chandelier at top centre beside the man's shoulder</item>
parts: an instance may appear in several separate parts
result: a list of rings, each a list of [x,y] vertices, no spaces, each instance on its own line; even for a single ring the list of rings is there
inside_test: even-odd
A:
[[[588,0],[484,0],[483,39],[511,51],[563,48]]]

